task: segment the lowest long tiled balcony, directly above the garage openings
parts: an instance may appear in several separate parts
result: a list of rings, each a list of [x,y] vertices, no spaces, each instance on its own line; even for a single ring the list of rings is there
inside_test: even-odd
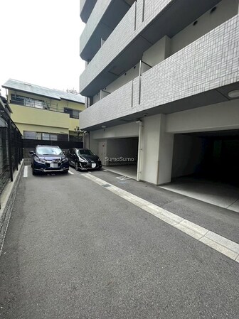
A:
[[[228,101],[228,92],[239,88],[238,70],[237,15],[83,111],[80,128]]]

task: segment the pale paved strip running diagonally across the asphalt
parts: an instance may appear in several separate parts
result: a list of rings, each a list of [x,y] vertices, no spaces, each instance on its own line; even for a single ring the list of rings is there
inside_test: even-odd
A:
[[[91,174],[85,174],[84,176],[100,186],[104,186],[107,183],[105,180],[101,180],[100,178],[97,178]],[[194,239],[197,239],[199,242],[203,242],[203,244],[206,244],[208,247],[221,252],[221,254],[224,254],[225,256],[228,256],[230,259],[238,261],[239,263],[239,244],[236,242],[216,234],[215,232],[211,232],[209,229],[196,225],[189,220],[185,220],[184,218],[169,212],[168,210],[164,210],[163,208],[152,204],[152,202],[148,202],[147,200],[139,198],[138,196],[133,195],[126,190],[122,190],[115,185],[110,183],[107,183],[107,185],[109,186],[107,186],[105,189],[110,190],[112,193],[124,198],[124,200],[127,200],[128,202],[132,202],[132,204],[136,205],[142,210],[149,212],[167,224],[181,230],[181,232],[188,234]]]

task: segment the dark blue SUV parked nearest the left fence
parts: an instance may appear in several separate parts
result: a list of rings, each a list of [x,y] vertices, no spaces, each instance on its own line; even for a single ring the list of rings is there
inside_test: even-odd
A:
[[[32,173],[68,173],[69,161],[59,146],[38,145],[32,155]]]

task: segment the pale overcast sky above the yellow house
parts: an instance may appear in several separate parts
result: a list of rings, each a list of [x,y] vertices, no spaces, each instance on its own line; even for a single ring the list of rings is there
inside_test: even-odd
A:
[[[79,91],[80,0],[0,0],[0,12],[0,87],[11,78]]]

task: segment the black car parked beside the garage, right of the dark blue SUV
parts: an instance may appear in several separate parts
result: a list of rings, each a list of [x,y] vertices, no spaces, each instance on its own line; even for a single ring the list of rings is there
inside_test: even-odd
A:
[[[99,156],[95,155],[87,148],[70,148],[67,157],[71,166],[75,167],[76,171],[88,169],[102,168]]]

